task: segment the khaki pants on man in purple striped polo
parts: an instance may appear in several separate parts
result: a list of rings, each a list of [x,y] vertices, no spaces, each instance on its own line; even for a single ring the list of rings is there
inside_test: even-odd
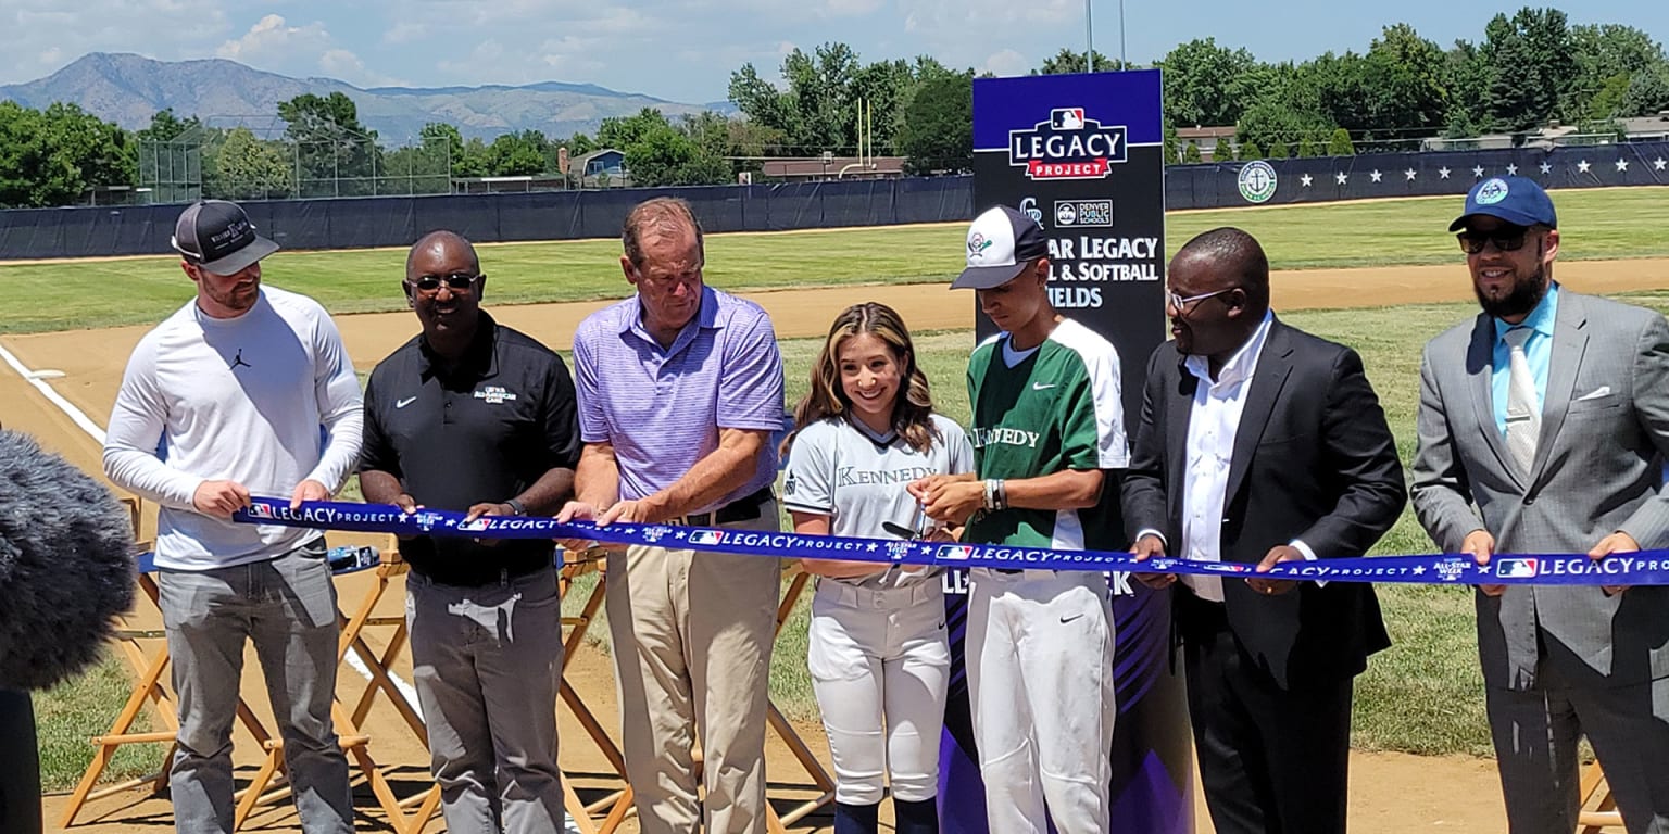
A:
[[[776,530],[776,502],[761,505],[759,519],[724,527]],[[608,582],[621,746],[639,831],[763,834],[781,564],[633,545],[609,555]],[[696,736],[704,802],[696,797]]]

